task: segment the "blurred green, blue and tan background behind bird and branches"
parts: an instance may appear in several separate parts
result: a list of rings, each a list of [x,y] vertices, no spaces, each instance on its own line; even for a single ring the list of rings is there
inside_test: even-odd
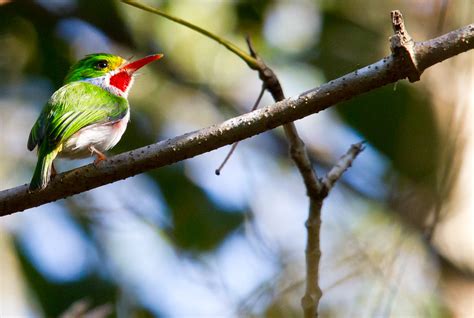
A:
[[[388,55],[390,10],[418,40],[474,12],[464,0],[147,3],[242,48],[249,34],[287,96]],[[85,54],[165,54],[137,77],[112,154],[243,113],[260,89],[223,47],[114,0],[1,0],[0,47],[0,189],[30,180],[29,130]],[[297,122],[320,173],[368,141],[325,201],[324,317],[474,315],[473,65],[467,53]],[[308,204],[282,131],[242,142],[217,177],[226,152],[2,218],[0,316],[301,316]]]

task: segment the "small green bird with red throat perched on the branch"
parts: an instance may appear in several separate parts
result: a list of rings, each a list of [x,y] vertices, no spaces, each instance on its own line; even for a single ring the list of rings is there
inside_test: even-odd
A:
[[[51,96],[31,129],[28,149],[38,148],[30,191],[44,189],[55,173],[53,160],[95,155],[114,147],[130,119],[128,93],[135,71],[163,57],[149,55],[134,62],[120,56],[87,55],[69,70],[64,86]]]

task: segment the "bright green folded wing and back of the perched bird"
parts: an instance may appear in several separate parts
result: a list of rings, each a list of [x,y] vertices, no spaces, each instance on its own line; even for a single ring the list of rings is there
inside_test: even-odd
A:
[[[128,110],[125,98],[86,82],[72,82],[58,89],[43,108],[31,129],[28,149],[47,141],[56,148],[86,126],[123,118]]]

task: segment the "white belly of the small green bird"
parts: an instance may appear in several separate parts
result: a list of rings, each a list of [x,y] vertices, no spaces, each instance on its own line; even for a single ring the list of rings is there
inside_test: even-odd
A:
[[[59,157],[79,159],[92,156],[90,147],[100,152],[114,147],[122,138],[130,119],[130,111],[122,119],[113,123],[96,124],[82,128],[69,137],[63,145]]]

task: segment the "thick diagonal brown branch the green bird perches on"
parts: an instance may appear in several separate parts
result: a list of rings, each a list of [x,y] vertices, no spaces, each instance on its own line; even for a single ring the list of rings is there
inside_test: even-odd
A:
[[[255,110],[221,124],[122,153],[102,162],[59,174],[40,192],[23,185],[0,192],[0,216],[5,216],[136,174],[217,149],[324,110],[372,89],[407,78],[441,61],[474,48],[474,24],[438,38],[414,43],[412,61],[395,52],[320,87]],[[412,76],[411,76],[412,77]],[[418,76],[419,78],[419,76]],[[415,78],[410,80],[415,81]]]

